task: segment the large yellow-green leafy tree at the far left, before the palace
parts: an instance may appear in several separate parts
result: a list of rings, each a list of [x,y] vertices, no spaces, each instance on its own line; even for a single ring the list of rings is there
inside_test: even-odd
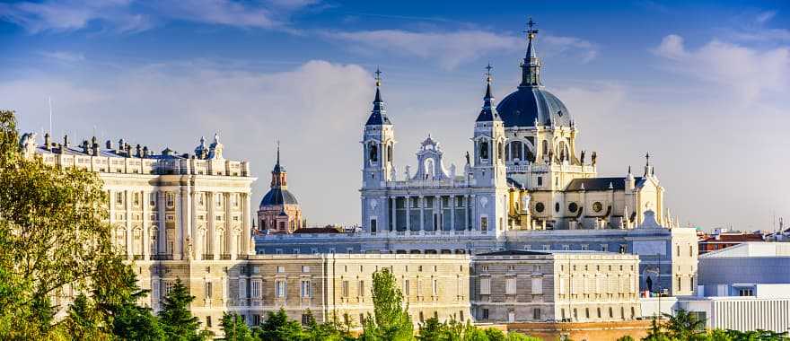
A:
[[[101,179],[21,153],[28,137],[20,139],[13,111],[0,110],[0,339],[52,337],[51,298],[89,290],[120,259]]]

